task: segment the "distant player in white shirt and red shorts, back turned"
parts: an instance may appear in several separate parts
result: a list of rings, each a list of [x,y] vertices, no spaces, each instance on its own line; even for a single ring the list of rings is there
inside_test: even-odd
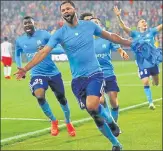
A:
[[[4,37],[4,42],[1,43],[1,61],[4,65],[4,77],[11,79],[12,44],[7,37]]]

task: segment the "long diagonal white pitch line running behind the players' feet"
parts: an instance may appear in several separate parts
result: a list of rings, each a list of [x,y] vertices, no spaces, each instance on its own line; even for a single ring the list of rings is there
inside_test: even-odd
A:
[[[153,100],[153,102],[157,102],[157,101],[160,101],[160,100],[162,100],[162,98],[155,99],[155,100]],[[141,106],[144,106],[146,104],[148,104],[148,102],[132,105],[132,106],[120,109],[120,112],[130,110],[130,109],[134,109],[134,108],[137,108],[137,107],[141,107]],[[83,122],[90,121],[90,120],[92,120],[92,118],[88,117],[88,118],[84,118],[84,119],[81,119],[81,120],[73,121],[72,123],[73,124],[78,124],[78,123],[83,123]],[[64,127],[66,127],[65,124],[59,125],[59,128],[64,128]],[[20,138],[22,139],[22,138],[25,138],[27,136],[35,136],[35,135],[43,133],[43,132],[44,133],[49,132],[49,130],[50,130],[50,127],[42,129],[42,130],[37,130],[37,131],[34,131],[34,132],[28,132],[28,133],[25,133],[25,134],[16,135],[16,136],[5,138],[5,139],[1,140],[1,143],[9,142],[11,140],[17,140],[17,139],[20,139]]]

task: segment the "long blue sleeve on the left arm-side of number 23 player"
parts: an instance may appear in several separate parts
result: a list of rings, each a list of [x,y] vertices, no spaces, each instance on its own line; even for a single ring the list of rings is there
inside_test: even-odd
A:
[[[17,67],[22,66],[22,59],[21,59],[21,53],[23,52],[23,49],[20,47],[18,40],[15,42],[15,62]]]

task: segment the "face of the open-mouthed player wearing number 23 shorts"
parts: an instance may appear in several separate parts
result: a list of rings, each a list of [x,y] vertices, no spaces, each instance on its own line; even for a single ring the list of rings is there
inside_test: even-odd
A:
[[[34,33],[34,20],[33,19],[24,19],[23,20],[24,31],[32,35]]]

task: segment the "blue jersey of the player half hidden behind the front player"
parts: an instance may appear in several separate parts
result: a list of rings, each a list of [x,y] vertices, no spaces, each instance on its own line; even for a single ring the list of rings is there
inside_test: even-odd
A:
[[[96,38],[94,43],[96,56],[104,73],[104,78],[114,76],[115,73],[111,62],[111,51],[116,51],[120,48],[120,45],[102,38]]]

